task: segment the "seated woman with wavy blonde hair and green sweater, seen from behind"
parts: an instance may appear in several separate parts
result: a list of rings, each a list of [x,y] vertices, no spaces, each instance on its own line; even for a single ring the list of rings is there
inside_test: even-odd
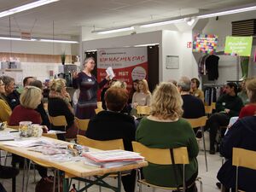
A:
[[[197,191],[195,178],[198,174],[196,156],[199,152],[195,133],[189,123],[182,119],[183,100],[172,83],[159,84],[153,93],[151,112],[137,128],[136,140],[149,148],[187,147],[189,165],[185,166],[186,191]],[[182,167],[179,167],[178,170]],[[182,186],[182,177],[175,177],[173,166],[156,166],[148,163],[143,175],[149,183],[163,187]]]

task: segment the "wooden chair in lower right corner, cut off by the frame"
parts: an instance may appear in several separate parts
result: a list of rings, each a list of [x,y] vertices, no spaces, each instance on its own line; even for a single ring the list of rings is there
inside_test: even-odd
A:
[[[247,150],[244,148],[233,148],[232,165],[236,166],[236,192],[238,189],[238,167],[245,167],[256,170],[256,151]]]

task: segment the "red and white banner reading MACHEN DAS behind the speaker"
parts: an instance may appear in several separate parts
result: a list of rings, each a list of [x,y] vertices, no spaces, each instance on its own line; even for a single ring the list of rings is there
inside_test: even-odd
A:
[[[130,91],[135,79],[148,79],[147,47],[99,49],[97,51],[97,80],[107,75],[106,69],[113,68],[114,79],[124,81]]]

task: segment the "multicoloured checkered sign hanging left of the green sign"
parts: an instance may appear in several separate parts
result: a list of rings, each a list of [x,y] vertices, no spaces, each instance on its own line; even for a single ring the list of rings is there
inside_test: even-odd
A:
[[[193,41],[193,52],[213,54],[218,44],[217,35],[197,34]]]

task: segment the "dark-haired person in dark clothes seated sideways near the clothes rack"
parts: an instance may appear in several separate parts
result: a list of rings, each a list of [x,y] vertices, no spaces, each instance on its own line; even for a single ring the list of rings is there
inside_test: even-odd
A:
[[[216,111],[207,120],[206,130],[210,129],[210,154],[215,154],[215,138],[220,126],[229,125],[230,118],[238,116],[243,106],[241,98],[237,96],[237,85],[233,82],[225,86],[225,94],[218,98],[216,102]],[[222,137],[225,129],[222,129]]]

